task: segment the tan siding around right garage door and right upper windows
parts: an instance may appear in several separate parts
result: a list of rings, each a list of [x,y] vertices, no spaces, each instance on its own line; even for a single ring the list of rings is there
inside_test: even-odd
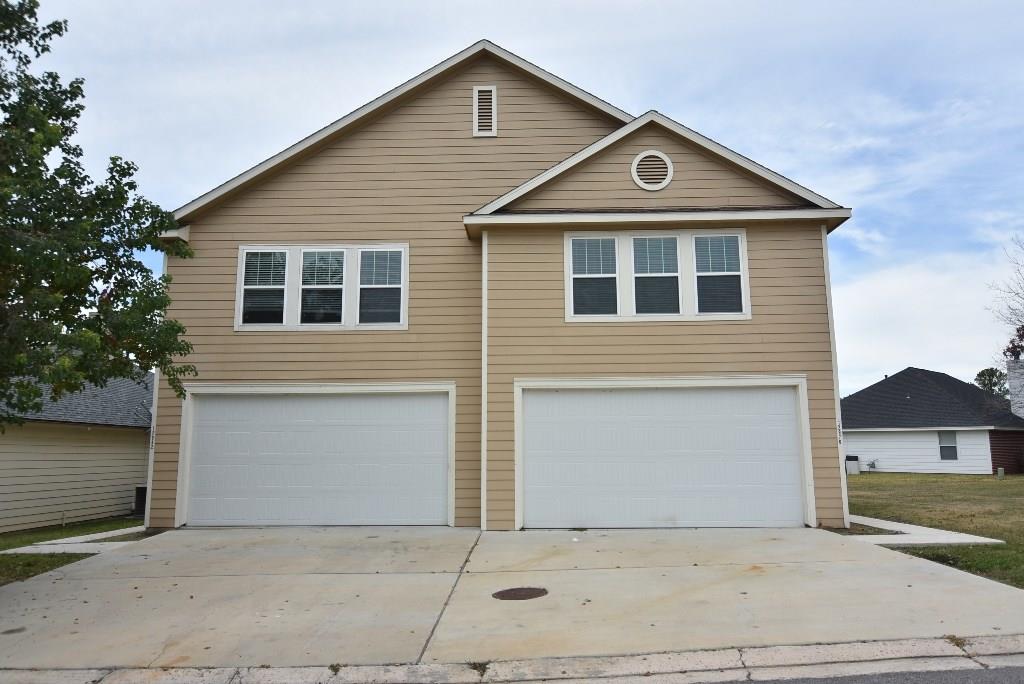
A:
[[[821,228],[751,226],[746,240],[751,319],[581,324],[564,320],[563,231],[488,231],[489,528],[514,524],[513,379],[781,373],[807,375],[818,520],[843,525]]]

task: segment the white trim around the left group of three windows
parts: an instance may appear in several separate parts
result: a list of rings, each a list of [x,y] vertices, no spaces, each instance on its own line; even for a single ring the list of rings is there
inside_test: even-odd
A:
[[[358,323],[359,254],[367,250],[397,250],[401,252],[401,318],[398,323]],[[303,252],[345,252],[345,276],[342,283],[343,302],[341,323],[299,323],[302,306],[302,253]],[[286,252],[285,268],[285,323],[244,324],[242,323],[242,299],[245,283],[245,263],[248,252]],[[354,279],[354,280],[353,280]],[[349,287],[352,283],[356,287]],[[311,286],[310,286],[311,287]],[[385,286],[380,286],[385,287]],[[408,330],[409,329],[409,245],[407,243],[362,243],[333,245],[241,245],[239,247],[238,268],[234,291],[236,332],[350,332],[361,330]]]

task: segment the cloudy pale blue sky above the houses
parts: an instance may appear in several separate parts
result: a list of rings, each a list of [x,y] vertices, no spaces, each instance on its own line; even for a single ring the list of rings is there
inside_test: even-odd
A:
[[[1024,231],[1024,3],[43,0],[90,170],[169,209],[480,39],[854,208],[830,259],[843,394],[971,380]],[[159,264],[157,259],[153,260]],[[157,266],[159,267],[159,265]]]

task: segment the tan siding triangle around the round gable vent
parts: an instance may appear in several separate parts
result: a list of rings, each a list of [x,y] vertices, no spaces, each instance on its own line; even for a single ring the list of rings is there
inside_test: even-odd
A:
[[[633,160],[648,149],[662,152],[672,160],[672,182],[660,190],[645,190],[633,182],[630,171]],[[698,149],[657,124],[648,124],[516,200],[506,210],[664,210],[806,204]]]

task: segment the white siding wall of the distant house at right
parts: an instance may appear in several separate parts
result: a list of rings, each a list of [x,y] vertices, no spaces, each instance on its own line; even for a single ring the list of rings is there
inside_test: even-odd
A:
[[[939,435],[933,430],[880,430],[845,432],[847,456],[860,459],[860,469],[874,463],[885,473],[958,473],[992,472],[985,430],[956,430],[956,460],[939,459]]]

